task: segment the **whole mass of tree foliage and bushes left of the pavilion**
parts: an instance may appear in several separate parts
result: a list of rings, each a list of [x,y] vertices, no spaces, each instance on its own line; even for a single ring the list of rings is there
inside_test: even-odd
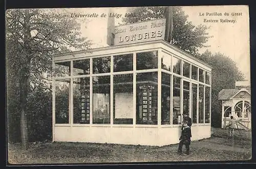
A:
[[[30,128],[27,133],[32,136],[30,140],[39,139],[35,138],[36,133],[40,135],[38,132],[48,137],[51,124],[45,119],[50,120],[49,113],[52,111],[50,104],[52,97],[49,95],[51,91],[49,79],[52,74],[51,55],[90,47],[91,42],[80,36],[80,25],[76,19],[50,17],[50,15],[61,12],[63,11],[59,9],[10,9],[6,11],[9,141],[20,140],[19,131],[20,128],[23,129],[20,125],[27,126],[27,119]],[[46,73],[45,78],[48,80],[42,78],[42,73]],[[38,105],[42,107],[37,107]],[[45,118],[43,114],[49,118]],[[22,116],[25,120],[21,119]],[[38,125],[44,128],[37,130]],[[36,129],[36,133],[33,133],[31,129]],[[25,127],[23,132],[26,130]],[[22,136],[27,137],[26,133]]]

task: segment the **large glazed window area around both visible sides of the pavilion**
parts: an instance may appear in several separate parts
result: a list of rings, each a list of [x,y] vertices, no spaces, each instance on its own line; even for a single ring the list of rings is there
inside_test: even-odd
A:
[[[193,124],[210,123],[210,72],[167,53],[157,68],[158,51],[56,62],[56,124],[157,125],[159,98],[161,125],[181,124],[181,112]]]

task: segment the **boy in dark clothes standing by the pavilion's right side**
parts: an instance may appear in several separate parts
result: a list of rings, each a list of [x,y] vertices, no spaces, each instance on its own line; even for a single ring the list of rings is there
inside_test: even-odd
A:
[[[183,124],[181,136],[180,136],[180,143],[178,148],[178,154],[182,154],[182,147],[185,144],[186,147],[186,155],[189,155],[189,145],[190,145],[190,137],[191,137],[191,130],[190,127],[187,125],[187,120]]]

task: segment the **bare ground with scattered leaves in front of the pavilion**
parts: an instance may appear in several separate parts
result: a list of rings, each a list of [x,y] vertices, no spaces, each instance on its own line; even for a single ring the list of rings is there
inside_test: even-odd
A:
[[[113,163],[157,161],[229,161],[251,158],[251,132],[212,128],[211,138],[192,141],[189,156],[178,155],[178,144],[163,147],[80,142],[34,142],[28,150],[19,143],[8,144],[12,164]],[[183,147],[183,150],[185,148]]]

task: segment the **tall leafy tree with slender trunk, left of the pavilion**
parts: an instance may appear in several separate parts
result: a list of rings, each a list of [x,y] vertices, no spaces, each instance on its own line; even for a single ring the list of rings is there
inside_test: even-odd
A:
[[[72,47],[79,50],[90,46],[90,41],[80,37],[80,25],[74,18],[46,15],[56,13],[60,11],[10,9],[6,12],[8,114],[12,100],[16,99],[25,149],[28,148],[28,94],[34,87],[40,86],[43,72],[51,74],[50,56],[69,52]],[[16,89],[15,92],[13,89]]]

